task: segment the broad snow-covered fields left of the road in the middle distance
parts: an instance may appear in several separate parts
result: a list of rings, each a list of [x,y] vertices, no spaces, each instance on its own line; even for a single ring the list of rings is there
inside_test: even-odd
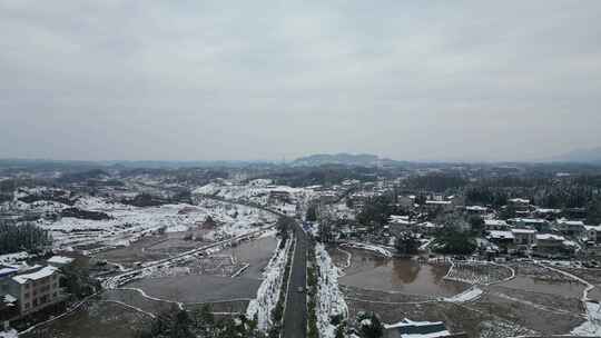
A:
[[[139,236],[159,229],[165,229],[166,232],[199,229],[208,217],[218,227],[210,229],[205,239],[219,240],[249,232],[254,229],[254,225],[273,223],[276,220],[273,215],[263,210],[213,200],[203,201],[199,206],[179,203],[138,208],[87,197],[78,200],[76,207],[106,212],[111,219],[88,220],[68,217],[58,221],[41,221],[40,226],[51,231],[57,248],[91,243],[128,246]],[[59,206],[53,205],[52,208]]]

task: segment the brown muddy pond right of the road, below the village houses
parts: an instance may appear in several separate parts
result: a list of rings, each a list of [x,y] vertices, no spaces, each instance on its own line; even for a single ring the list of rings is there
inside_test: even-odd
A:
[[[346,275],[339,279],[344,286],[431,297],[453,296],[469,288],[465,284],[443,279],[447,266],[425,265],[408,258],[384,258],[356,249],[345,251],[352,256]],[[335,261],[342,261],[341,255],[345,257],[337,249],[329,252],[336,256]]]

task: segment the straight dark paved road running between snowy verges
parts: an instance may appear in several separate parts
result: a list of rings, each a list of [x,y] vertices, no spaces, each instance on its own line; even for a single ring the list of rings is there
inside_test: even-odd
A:
[[[283,338],[305,338],[307,328],[307,299],[303,290],[307,280],[307,236],[295,221],[296,251],[294,252],[286,312],[284,314]]]

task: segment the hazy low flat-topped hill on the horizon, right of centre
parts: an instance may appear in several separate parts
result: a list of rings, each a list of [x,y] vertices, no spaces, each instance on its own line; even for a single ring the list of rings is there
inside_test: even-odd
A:
[[[377,167],[377,166],[395,166],[403,162],[391,160],[387,158],[381,158],[371,153],[316,153],[306,157],[297,158],[292,162],[293,166],[323,166],[323,165],[343,165],[343,166],[358,166],[358,167]]]

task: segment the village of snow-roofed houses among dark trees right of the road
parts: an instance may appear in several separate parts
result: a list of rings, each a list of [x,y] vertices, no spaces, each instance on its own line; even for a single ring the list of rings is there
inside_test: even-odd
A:
[[[376,196],[380,191],[357,191],[349,196],[355,205]],[[417,202],[415,195],[398,195],[398,206],[408,210],[410,216],[391,216],[388,222],[382,225],[380,237],[375,241],[392,243],[392,237],[403,231],[411,231],[420,238],[433,236],[444,223],[433,221],[432,215],[449,212],[463,213],[454,220],[454,227],[470,230],[467,221],[471,216],[484,220],[484,233],[479,245],[482,254],[487,255],[525,255],[543,258],[570,258],[577,254],[589,254],[601,258],[601,225],[587,225],[578,217],[568,219],[573,210],[543,209],[531,203],[529,199],[512,198],[506,206],[495,209],[486,206],[466,206],[462,197],[425,195]],[[514,218],[499,219],[503,209],[511,209]],[[578,211],[578,210],[575,210]],[[578,212],[577,212],[578,213]],[[349,236],[374,237],[367,229],[347,229]],[[343,231],[344,232],[344,231]],[[374,239],[372,239],[374,240]]]

